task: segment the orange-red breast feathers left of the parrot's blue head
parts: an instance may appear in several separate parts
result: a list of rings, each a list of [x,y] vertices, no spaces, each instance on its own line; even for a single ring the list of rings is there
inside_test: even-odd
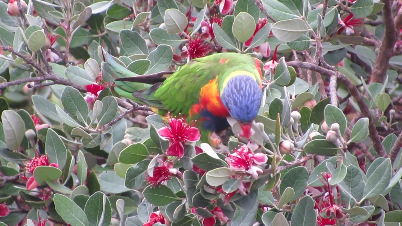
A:
[[[229,114],[228,109],[223,105],[216,79],[209,81],[201,88],[200,105],[215,116],[226,117]]]

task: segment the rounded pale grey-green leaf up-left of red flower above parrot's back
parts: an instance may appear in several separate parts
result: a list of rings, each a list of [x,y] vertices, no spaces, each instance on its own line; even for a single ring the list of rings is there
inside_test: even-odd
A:
[[[170,8],[165,11],[164,21],[166,31],[170,34],[182,32],[189,23],[187,16],[175,8]]]

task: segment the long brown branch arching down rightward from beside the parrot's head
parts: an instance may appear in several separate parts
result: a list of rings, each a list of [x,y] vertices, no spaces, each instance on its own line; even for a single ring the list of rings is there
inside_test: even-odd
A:
[[[387,156],[384,146],[382,145],[381,140],[379,139],[378,131],[377,131],[377,128],[375,127],[374,119],[371,116],[370,109],[367,106],[367,104],[365,103],[365,101],[363,99],[363,95],[361,95],[361,92],[359,92],[359,89],[357,89],[355,84],[353,84],[353,82],[351,80],[349,80],[349,78],[347,78],[344,74],[341,74],[336,70],[328,70],[326,68],[320,67],[320,66],[312,64],[312,63],[290,61],[290,62],[286,62],[286,64],[288,66],[292,66],[292,67],[314,70],[327,77],[336,76],[338,81],[341,82],[349,90],[352,97],[357,102],[357,105],[359,105],[359,108],[360,108],[363,116],[367,117],[369,119],[369,136],[371,138],[371,141],[373,142],[373,146],[374,146],[375,151],[377,152],[378,156],[380,156],[380,157]]]

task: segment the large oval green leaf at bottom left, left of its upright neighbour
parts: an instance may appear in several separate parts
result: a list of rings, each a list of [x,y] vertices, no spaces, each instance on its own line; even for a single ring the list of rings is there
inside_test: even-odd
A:
[[[64,221],[74,226],[90,225],[84,210],[74,203],[74,201],[61,194],[55,194],[53,200],[57,214],[59,214]]]

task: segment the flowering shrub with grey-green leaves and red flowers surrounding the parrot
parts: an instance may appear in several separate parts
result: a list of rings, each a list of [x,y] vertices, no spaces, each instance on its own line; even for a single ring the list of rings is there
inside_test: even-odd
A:
[[[0,225],[398,225],[401,25],[391,0],[2,0]],[[263,103],[216,148],[104,58],[226,51],[262,60]]]

